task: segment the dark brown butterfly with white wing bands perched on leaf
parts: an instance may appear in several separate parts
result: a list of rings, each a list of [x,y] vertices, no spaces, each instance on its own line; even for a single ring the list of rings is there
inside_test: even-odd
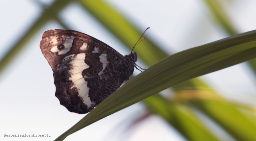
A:
[[[40,49],[53,71],[55,96],[78,114],[90,112],[129,80],[137,61],[135,52],[122,56],[104,42],[74,30],[45,31]]]

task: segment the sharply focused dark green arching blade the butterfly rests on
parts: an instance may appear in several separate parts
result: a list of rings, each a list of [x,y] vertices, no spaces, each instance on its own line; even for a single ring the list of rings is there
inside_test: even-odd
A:
[[[170,86],[255,57],[255,30],[175,53],[127,81],[56,140]]]

